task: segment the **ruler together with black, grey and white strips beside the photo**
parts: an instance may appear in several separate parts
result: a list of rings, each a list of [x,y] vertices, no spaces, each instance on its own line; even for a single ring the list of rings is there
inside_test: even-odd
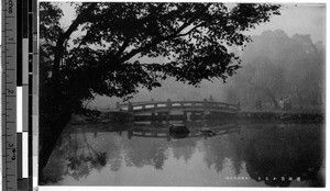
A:
[[[37,187],[37,0],[2,1],[2,190]]]

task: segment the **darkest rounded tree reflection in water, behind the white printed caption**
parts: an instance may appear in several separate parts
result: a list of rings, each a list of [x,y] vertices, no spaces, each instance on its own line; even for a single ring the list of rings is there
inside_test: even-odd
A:
[[[246,171],[273,187],[288,187],[289,178],[315,180],[322,164],[322,144],[317,125],[260,130],[246,143]]]

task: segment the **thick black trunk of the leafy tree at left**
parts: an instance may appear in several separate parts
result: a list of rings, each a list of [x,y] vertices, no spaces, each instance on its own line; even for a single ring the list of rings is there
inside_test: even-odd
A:
[[[90,20],[90,12],[97,3],[90,3],[88,8],[81,11],[73,21],[70,26],[64,33],[59,34],[56,41],[54,63],[52,66],[52,77],[50,81],[41,81],[40,100],[40,149],[38,149],[38,177],[42,180],[42,172],[48,162],[48,159],[56,146],[63,130],[69,123],[73,108],[68,97],[63,93],[63,76],[61,75],[61,61],[66,48],[66,41],[72,33],[84,22]],[[44,79],[46,80],[46,79]],[[67,93],[67,92],[66,92]]]

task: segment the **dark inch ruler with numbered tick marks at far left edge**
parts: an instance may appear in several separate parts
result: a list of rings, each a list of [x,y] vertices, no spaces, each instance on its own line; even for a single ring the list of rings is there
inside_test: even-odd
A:
[[[18,190],[18,3],[2,0],[2,190]]]

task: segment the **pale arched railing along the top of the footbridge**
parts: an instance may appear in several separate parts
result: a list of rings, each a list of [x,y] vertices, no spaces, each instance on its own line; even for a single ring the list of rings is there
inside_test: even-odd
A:
[[[145,102],[133,102],[133,103],[117,103],[118,110],[139,112],[145,110],[155,109],[211,109],[211,110],[227,110],[227,111],[239,111],[239,104],[215,102],[215,101],[145,101]]]

